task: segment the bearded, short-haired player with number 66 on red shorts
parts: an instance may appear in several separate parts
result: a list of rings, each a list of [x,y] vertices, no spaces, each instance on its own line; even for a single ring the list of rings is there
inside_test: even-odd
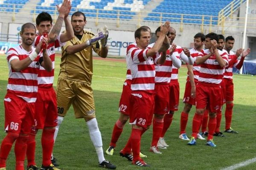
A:
[[[52,67],[52,61],[45,49],[43,50],[43,59],[38,57],[42,43],[47,44],[47,40],[43,38],[36,48],[32,47],[36,36],[35,31],[36,28],[32,23],[24,24],[20,31],[21,45],[10,48],[7,52],[9,79],[7,94],[4,98],[7,135],[0,147],[0,170],[6,170],[6,159],[15,141],[15,170],[24,170],[26,143],[31,130],[35,130],[33,125],[39,64],[41,63],[48,71]]]

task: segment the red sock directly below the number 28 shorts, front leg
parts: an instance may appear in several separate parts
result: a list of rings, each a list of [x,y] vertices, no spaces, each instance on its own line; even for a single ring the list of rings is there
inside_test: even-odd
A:
[[[133,161],[140,160],[140,139],[141,139],[141,130],[132,129],[131,130],[131,149],[133,153]]]

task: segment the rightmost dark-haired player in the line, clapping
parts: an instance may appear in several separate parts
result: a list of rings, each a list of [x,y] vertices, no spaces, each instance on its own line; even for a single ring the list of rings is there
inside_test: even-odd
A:
[[[231,125],[232,120],[232,113],[233,113],[233,99],[234,99],[234,84],[233,84],[233,67],[236,67],[237,69],[240,69],[243,66],[244,63],[244,57],[246,57],[250,53],[250,48],[248,48],[246,51],[243,51],[243,49],[239,49],[236,51],[236,54],[234,54],[232,50],[235,43],[235,39],[232,36],[226,37],[225,40],[225,50],[228,53],[228,59],[229,59],[229,66],[225,69],[224,73],[224,82],[226,86],[226,110],[225,110],[225,119],[226,119],[226,126],[224,132],[227,133],[238,133],[237,131],[233,130]],[[240,54],[242,54],[240,61],[237,59]]]

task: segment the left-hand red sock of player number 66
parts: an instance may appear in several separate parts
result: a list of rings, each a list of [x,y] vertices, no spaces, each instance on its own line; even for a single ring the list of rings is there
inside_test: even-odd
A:
[[[0,147],[0,167],[6,167],[6,159],[12,149],[12,144],[18,138],[18,133],[8,132]]]

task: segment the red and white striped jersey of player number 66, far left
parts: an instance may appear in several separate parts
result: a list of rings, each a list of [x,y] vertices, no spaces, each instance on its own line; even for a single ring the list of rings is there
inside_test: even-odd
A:
[[[7,52],[7,63],[9,66],[9,79],[7,91],[19,96],[28,103],[36,101],[38,92],[38,72],[39,72],[39,57],[21,71],[15,71],[10,62],[13,59],[25,59],[35,51],[32,47],[31,51],[26,51],[21,45],[10,48]]]

